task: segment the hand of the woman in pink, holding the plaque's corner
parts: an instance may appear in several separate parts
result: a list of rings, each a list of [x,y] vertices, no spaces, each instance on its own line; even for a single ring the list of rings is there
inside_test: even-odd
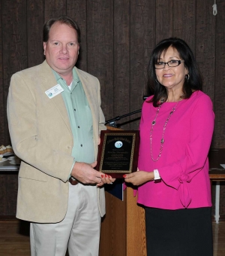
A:
[[[154,179],[154,172],[145,172],[137,169],[136,172],[132,172],[124,175],[124,181],[130,182],[135,186],[144,184],[145,182],[152,181]]]

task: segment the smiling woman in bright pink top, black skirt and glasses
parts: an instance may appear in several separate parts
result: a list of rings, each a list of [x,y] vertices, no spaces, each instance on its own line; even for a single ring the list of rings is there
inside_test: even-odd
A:
[[[148,255],[211,256],[211,99],[179,38],[157,44],[148,75],[154,96],[142,106],[138,172],[124,175],[145,206]]]

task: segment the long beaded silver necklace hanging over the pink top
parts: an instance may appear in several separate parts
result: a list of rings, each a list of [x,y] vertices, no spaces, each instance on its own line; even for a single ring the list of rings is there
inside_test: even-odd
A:
[[[179,101],[178,101],[178,102],[179,102]],[[155,115],[155,117],[154,117],[154,120],[151,122],[150,150],[151,150],[151,159],[152,159],[154,162],[157,162],[157,160],[160,159],[160,156],[161,156],[162,151],[163,151],[164,133],[165,133],[165,131],[166,131],[166,125],[167,125],[167,123],[168,123],[168,121],[169,121],[169,118],[172,116],[173,112],[175,111],[175,108],[176,108],[176,106],[178,105],[178,102],[177,102],[177,103],[175,104],[175,106],[172,108],[172,111],[169,113],[169,116],[166,118],[166,122],[165,122],[165,124],[164,124],[164,126],[163,126],[163,135],[162,135],[162,139],[160,140],[160,152],[159,152],[159,154],[158,154],[158,156],[157,156],[157,159],[154,159],[154,158],[153,158],[153,155],[152,155],[152,139],[153,139],[153,138],[152,138],[152,133],[153,133],[153,127],[154,127],[154,125],[155,125],[155,123],[156,123],[157,114],[159,113],[160,107],[161,107],[161,105],[162,105],[163,103],[161,103],[161,104],[159,105],[159,107],[157,108],[157,111],[156,111],[156,115]]]

